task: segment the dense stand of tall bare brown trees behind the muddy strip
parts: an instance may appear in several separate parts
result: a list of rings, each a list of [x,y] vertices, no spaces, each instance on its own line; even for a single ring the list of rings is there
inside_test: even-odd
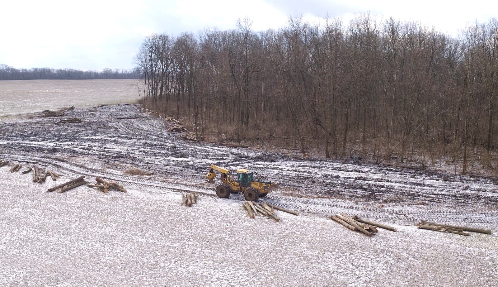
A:
[[[142,100],[208,139],[463,174],[496,163],[496,18],[458,37],[369,14],[291,17],[262,32],[246,18],[228,31],[151,34],[135,62]]]

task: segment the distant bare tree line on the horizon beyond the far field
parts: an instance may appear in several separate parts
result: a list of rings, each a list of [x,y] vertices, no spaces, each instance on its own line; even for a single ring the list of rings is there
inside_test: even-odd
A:
[[[94,79],[140,79],[141,69],[119,70],[105,68],[102,71],[76,69],[31,68],[16,69],[0,64],[0,80],[94,80]]]

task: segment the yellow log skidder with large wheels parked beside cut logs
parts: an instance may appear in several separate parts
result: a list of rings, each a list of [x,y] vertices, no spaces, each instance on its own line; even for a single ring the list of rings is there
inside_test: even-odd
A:
[[[216,171],[221,173],[222,183],[216,187],[216,194],[221,198],[228,198],[231,193],[243,193],[247,201],[257,201],[259,197],[266,197],[268,192],[278,188],[278,184],[248,169],[237,170],[237,180],[234,180],[230,170],[214,164],[211,164],[206,174],[209,182],[214,182]]]

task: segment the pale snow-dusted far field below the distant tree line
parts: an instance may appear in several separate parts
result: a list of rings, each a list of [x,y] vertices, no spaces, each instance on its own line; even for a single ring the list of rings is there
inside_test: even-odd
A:
[[[138,100],[137,80],[0,81],[0,116]]]

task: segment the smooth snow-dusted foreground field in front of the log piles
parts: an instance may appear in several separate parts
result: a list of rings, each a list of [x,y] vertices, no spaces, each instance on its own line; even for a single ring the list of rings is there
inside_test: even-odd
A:
[[[128,187],[103,194],[0,168],[0,286],[496,286],[498,237],[325,216],[250,219],[240,202]],[[93,178],[89,179],[93,180]],[[487,225],[497,230],[496,224]]]

